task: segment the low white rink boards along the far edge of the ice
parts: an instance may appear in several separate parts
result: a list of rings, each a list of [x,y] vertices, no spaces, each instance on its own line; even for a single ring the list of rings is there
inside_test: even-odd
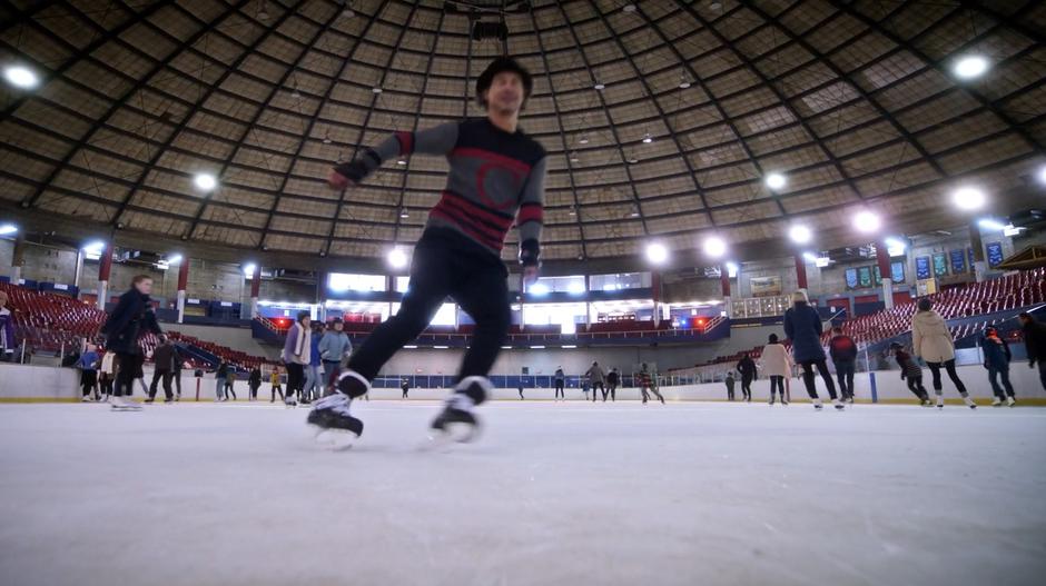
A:
[[[970,389],[970,395],[984,404],[991,398],[991,391],[985,383],[987,375],[980,366],[961,366],[958,368],[959,377]],[[914,401],[911,393],[908,391],[904,381],[898,377],[896,370],[872,373],[876,376],[876,387],[878,399],[880,401],[906,400]],[[929,373],[925,373],[925,384],[929,387]],[[950,381],[945,377],[944,396],[954,401],[958,398]],[[1046,403],[1046,391],[1043,390],[1038,381],[1038,370],[1033,370],[1023,364],[1014,365],[1010,369],[1010,378],[1014,388],[1017,391],[1017,400],[1025,404]],[[146,380],[151,381],[151,371],[146,368]],[[868,373],[858,374],[855,378],[855,397],[858,401],[871,400],[871,383]],[[22,366],[0,364],[0,401],[6,400],[78,400],[80,397],[78,385],[78,373],[71,368],[56,368],[45,366]],[[752,387],[752,400],[757,403],[766,401],[769,397],[769,383],[758,380]],[[802,383],[799,379],[790,379],[791,397],[793,401],[809,400],[803,390]],[[191,373],[182,376],[182,400],[189,401],[196,398],[196,379]],[[247,384],[245,381],[236,383],[236,393],[240,400],[247,398]],[[932,389],[928,389],[932,395]],[[208,375],[201,380],[200,399],[214,400],[215,379]],[[268,400],[269,385],[265,381],[258,394],[259,398]],[[445,389],[413,389],[412,399],[441,399],[446,396]],[[707,385],[690,385],[679,387],[662,387],[662,395],[668,400],[723,400],[726,389],[720,383]],[[823,383],[818,380],[818,393],[827,399]],[[527,399],[550,399],[551,389],[524,389]],[[618,399],[639,400],[640,393],[635,388],[623,388],[618,391]],[[135,397],[141,398],[141,390],[136,387]],[[158,396],[162,397],[162,389],[158,390]],[[579,389],[566,389],[566,397],[571,400],[583,398]],[[371,391],[373,399],[399,399],[398,389],[374,389]],[[519,395],[514,389],[496,389],[494,399],[519,400]]]

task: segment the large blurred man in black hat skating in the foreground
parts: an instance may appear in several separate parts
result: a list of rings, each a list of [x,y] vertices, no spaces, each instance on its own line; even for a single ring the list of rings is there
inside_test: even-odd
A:
[[[486,375],[511,322],[509,271],[501,249],[513,220],[520,229],[524,280],[537,279],[545,151],[517,128],[532,89],[525,69],[512,59],[497,58],[476,81],[476,99],[486,108],[485,118],[397,132],[330,173],[330,186],[346,189],[363,182],[383,162],[415,152],[445,156],[451,167],[442,199],[430,212],[414,249],[399,312],[353,355],[338,378],[338,393],[315,405],[308,423],[320,431],[345,431],[348,435],[342,439],[348,441],[363,433],[363,421],[349,414],[351,400],[367,393],[382,366],[421,334],[450,296],[476,326],[454,394],[432,428],[450,431],[461,426],[465,429],[457,439],[474,436],[477,421],[472,411],[490,393]]]

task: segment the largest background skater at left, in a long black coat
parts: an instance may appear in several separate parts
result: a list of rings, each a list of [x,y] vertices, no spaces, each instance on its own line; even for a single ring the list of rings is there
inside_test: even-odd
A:
[[[131,288],[120,296],[119,302],[109,314],[101,334],[106,336],[106,347],[116,352],[119,373],[114,389],[114,409],[140,409],[141,407],[124,398],[134,391],[136,374],[144,359],[138,338],[148,332],[164,334],[152,311],[152,278],[139,275],[131,281]]]

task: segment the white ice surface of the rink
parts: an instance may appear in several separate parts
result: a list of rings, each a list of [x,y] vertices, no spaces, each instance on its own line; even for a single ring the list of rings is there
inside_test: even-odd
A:
[[[1046,409],[0,405],[12,585],[1040,585]]]

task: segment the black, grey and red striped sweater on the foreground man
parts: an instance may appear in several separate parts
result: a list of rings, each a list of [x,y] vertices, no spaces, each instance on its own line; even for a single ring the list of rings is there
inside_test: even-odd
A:
[[[520,261],[537,265],[543,218],[545,150],[522,131],[506,132],[490,119],[447,122],[396,132],[335,170],[355,183],[383,162],[415,152],[443,155],[451,163],[446,188],[426,228],[450,228],[501,256],[513,221],[520,228]]]

